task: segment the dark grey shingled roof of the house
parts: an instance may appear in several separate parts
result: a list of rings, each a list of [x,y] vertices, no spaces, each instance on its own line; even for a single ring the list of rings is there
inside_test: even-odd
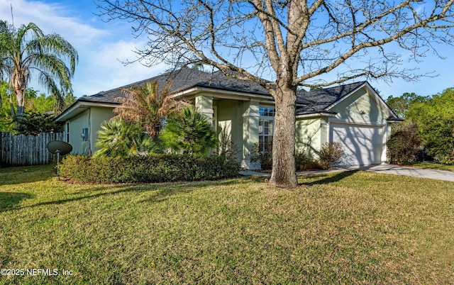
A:
[[[187,91],[196,87],[206,87],[225,91],[242,92],[245,94],[265,95],[270,96],[271,101],[274,100],[265,88],[255,82],[227,77],[219,71],[208,73],[196,69],[182,68],[109,91],[101,91],[92,96],[84,96],[80,98],[79,101],[118,103],[115,101],[115,98],[124,96],[123,89],[129,89],[131,86],[144,86],[146,82],[150,81],[156,81],[158,88],[162,89],[168,80],[172,82],[170,93]],[[360,88],[363,84],[365,84],[365,82],[355,82],[314,91],[299,91],[297,94],[297,104],[299,105],[299,108],[297,108],[296,115],[327,112],[329,111],[326,109],[328,106],[341,100],[343,97],[355,91],[355,89]]]

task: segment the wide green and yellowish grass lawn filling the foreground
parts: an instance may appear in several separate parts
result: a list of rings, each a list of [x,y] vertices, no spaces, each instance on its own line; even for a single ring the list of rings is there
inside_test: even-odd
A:
[[[454,183],[341,172],[76,185],[0,169],[0,284],[454,284]],[[62,270],[72,275],[62,275]]]

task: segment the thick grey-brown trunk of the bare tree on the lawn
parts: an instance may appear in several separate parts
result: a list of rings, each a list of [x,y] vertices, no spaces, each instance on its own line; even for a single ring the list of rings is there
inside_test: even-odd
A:
[[[275,131],[272,141],[270,184],[281,188],[298,186],[295,170],[295,102],[296,90],[282,87],[275,91]]]

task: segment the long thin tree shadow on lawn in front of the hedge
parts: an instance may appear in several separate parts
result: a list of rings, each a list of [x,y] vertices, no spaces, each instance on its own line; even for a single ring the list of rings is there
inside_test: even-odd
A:
[[[81,201],[84,199],[96,199],[102,196],[111,196],[111,195],[116,195],[116,194],[121,194],[121,193],[128,193],[128,192],[150,192],[154,193],[153,196],[151,196],[148,199],[145,199],[143,201],[148,201],[148,202],[160,202],[164,201],[170,196],[175,196],[177,194],[185,194],[189,193],[191,191],[194,191],[194,189],[199,189],[204,186],[221,186],[221,185],[228,185],[231,184],[231,179],[226,179],[222,181],[195,181],[195,182],[172,182],[172,183],[160,183],[160,184],[129,184],[129,185],[123,185],[123,186],[112,186],[112,185],[106,185],[106,186],[97,186],[94,188],[90,188],[87,191],[78,191],[75,192],[74,195],[82,195],[82,196],[77,196],[74,198],[68,198],[68,199],[60,199],[60,200],[55,200],[55,201],[47,201],[47,202],[41,202],[41,203],[35,203],[33,205],[29,206],[23,206],[20,208],[34,208],[34,207],[39,207],[39,206],[48,206],[48,205],[60,205],[63,203],[70,203],[74,201]],[[117,190],[111,191],[112,187],[116,187]],[[101,191],[101,193],[96,193],[92,194],[94,191]],[[30,197],[33,198],[33,197]],[[143,202],[140,201],[140,202]]]

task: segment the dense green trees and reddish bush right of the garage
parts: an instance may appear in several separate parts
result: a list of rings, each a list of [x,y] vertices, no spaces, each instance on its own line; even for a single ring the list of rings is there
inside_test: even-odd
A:
[[[414,93],[389,96],[387,104],[404,119],[404,123],[394,125],[388,141],[391,160],[399,163],[412,160],[423,147],[436,162],[453,164],[454,88],[433,96]]]

